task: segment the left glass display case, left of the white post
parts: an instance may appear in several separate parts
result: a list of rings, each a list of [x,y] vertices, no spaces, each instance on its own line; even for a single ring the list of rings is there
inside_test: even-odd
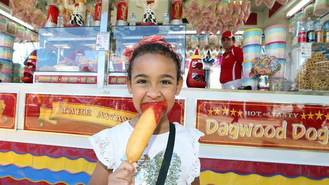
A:
[[[100,27],[39,28],[36,71],[97,72]]]

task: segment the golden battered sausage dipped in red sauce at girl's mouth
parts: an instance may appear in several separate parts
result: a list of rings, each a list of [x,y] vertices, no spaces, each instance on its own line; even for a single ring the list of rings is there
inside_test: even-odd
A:
[[[137,162],[159,123],[162,112],[167,109],[167,103],[149,102],[141,105],[142,115],[139,118],[133,133],[131,134],[126,148],[127,160],[131,163]]]

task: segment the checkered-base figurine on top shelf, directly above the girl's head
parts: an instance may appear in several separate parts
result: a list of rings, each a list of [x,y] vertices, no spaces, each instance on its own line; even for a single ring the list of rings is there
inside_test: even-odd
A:
[[[136,6],[144,9],[143,21],[141,25],[157,25],[154,11],[158,8],[158,0],[137,0]]]

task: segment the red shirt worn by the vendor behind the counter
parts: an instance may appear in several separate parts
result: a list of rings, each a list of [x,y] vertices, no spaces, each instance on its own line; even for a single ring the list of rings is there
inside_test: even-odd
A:
[[[219,81],[223,84],[241,78],[243,53],[241,48],[232,47],[223,55]],[[234,76],[233,76],[234,74]]]

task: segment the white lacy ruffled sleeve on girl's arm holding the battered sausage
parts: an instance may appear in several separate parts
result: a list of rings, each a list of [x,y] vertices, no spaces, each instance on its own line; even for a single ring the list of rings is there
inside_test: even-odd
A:
[[[110,129],[102,130],[89,137],[89,141],[96,153],[97,159],[107,166],[107,169],[114,169],[115,154],[110,137]]]

